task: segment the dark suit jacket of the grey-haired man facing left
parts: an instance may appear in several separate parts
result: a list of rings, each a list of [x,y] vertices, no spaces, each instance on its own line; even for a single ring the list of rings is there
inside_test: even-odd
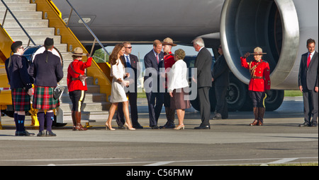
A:
[[[211,53],[203,47],[195,60],[194,68],[197,68],[197,88],[211,87]]]

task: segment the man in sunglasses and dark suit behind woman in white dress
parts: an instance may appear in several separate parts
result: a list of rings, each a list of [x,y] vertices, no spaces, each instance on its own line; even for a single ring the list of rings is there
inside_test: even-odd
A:
[[[121,59],[125,62],[124,66],[126,68],[126,73],[130,73],[130,87],[128,87],[128,100],[130,102],[130,118],[132,119],[133,128],[143,128],[138,123],[138,72],[140,72],[140,66],[138,66],[138,57],[130,54],[132,52],[132,46],[130,42],[123,42],[125,47],[124,56]],[[126,88],[126,87],[125,87]],[[124,114],[123,114],[123,104],[118,103],[118,113],[116,115],[116,123],[119,128],[123,128]]]

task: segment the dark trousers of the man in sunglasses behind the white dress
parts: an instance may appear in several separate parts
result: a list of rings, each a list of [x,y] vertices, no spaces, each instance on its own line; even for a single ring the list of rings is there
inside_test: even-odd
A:
[[[130,119],[133,126],[138,125],[138,92],[128,92],[128,102],[130,103]],[[123,103],[118,103],[118,113],[116,114],[116,123],[125,124]]]

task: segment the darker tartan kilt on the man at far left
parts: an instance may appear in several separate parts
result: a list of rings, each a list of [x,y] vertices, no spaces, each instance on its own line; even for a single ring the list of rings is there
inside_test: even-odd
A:
[[[28,112],[31,109],[30,95],[23,88],[11,90],[13,109],[16,112]]]

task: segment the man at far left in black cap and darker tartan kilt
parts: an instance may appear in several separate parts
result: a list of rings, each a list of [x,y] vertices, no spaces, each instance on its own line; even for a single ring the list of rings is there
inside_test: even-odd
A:
[[[28,60],[22,56],[21,41],[11,44],[13,55],[6,59],[6,75],[11,86],[12,103],[14,109],[14,122],[16,123],[16,136],[33,136],[24,126],[26,112],[30,110],[30,95],[33,94],[33,78],[28,74]]]

